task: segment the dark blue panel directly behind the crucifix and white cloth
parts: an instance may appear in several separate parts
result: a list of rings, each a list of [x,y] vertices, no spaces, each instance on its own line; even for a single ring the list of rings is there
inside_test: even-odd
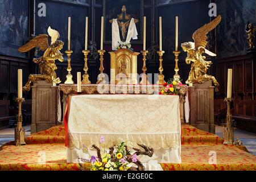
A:
[[[142,43],[143,35],[143,15],[144,15],[144,0],[104,0],[103,15],[104,20],[104,43],[112,43],[112,23],[109,20],[117,18],[122,13],[122,6],[126,6],[126,14],[131,15],[131,18],[138,19],[136,28],[138,31],[138,39],[131,39],[131,43]]]

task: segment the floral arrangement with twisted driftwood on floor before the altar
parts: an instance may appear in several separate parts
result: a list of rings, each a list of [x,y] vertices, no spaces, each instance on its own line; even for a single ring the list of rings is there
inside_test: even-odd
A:
[[[104,140],[105,138],[101,137],[100,142],[103,144],[102,155],[101,149],[93,144],[92,148],[97,151],[97,156],[91,156],[86,150],[90,159],[82,159],[84,162],[92,163],[92,167],[90,168],[91,171],[144,171],[144,166],[139,161],[138,155],[152,157],[154,154],[153,148],[149,148],[143,144],[138,144],[138,146],[144,148],[144,151],[141,151],[138,148],[133,148],[135,152],[134,154],[131,154],[131,151],[127,147],[131,146],[130,142],[121,142],[117,146],[110,147],[107,152],[105,150]]]

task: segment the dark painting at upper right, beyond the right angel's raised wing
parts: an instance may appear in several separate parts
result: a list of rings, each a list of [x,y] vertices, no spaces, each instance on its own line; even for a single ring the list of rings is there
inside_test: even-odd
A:
[[[255,23],[256,2],[254,0],[217,1],[222,20],[217,27],[217,58],[243,55],[248,49],[245,26]]]

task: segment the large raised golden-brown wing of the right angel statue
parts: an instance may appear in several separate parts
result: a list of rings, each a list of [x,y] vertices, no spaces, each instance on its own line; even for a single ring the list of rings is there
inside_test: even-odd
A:
[[[205,24],[203,27],[199,28],[193,34],[193,40],[195,42],[195,48],[206,47],[207,46],[207,34],[212,31],[221,22],[221,15],[212,20],[212,22]]]

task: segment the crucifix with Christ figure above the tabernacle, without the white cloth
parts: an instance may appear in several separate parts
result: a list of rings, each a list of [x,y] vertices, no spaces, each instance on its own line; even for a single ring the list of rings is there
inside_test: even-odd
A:
[[[131,21],[131,15],[126,14],[126,6],[122,6],[122,13],[117,15],[117,22],[119,27],[119,32],[121,34],[120,38],[122,42],[126,42],[127,32]],[[113,23],[113,20],[109,20],[110,23]],[[134,19],[134,23],[139,22],[138,19]]]

